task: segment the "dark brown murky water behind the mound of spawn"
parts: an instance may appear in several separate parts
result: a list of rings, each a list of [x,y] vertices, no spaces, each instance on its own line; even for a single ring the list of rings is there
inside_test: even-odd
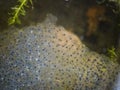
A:
[[[120,30],[116,28],[119,17],[113,13],[115,5],[98,4],[97,0],[34,0],[20,16],[21,25],[29,26],[43,21],[48,13],[58,18],[57,24],[75,33],[90,49],[107,53],[107,49],[120,47]],[[7,20],[16,0],[0,1],[0,31],[9,28]]]

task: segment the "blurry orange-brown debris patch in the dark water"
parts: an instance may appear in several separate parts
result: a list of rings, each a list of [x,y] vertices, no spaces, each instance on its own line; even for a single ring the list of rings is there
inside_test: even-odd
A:
[[[106,9],[104,6],[93,6],[88,9],[86,13],[88,18],[88,31],[86,33],[87,36],[90,36],[97,30],[100,21],[106,20],[105,12]]]

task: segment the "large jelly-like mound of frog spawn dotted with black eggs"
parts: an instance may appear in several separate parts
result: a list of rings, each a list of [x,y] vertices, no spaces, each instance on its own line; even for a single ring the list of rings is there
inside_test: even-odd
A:
[[[1,90],[109,90],[119,65],[89,50],[74,34],[43,23],[0,33]]]

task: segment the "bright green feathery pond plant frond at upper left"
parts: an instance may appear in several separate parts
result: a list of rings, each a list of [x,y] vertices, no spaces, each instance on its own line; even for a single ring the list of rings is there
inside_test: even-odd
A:
[[[32,0],[18,0],[18,2],[19,2],[19,5],[16,5],[16,6],[11,8],[13,10],[13,12],[10,13],[11,17],[8,19],[9,25],[12,25],[15,23],[21,24],[19,16],[26,15],[25,7],[28,7],[28,2],[30,2],[31,5],[33,5]]]

